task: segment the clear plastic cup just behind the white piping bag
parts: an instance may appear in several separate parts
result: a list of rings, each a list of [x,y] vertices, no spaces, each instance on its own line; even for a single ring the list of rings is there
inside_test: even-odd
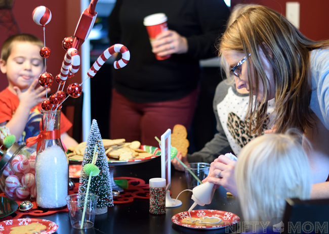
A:
[[[189,163],[186,165],[199,179],[202,181],[209,174],[210,164],[209,163]],[[199,185],[194,176],[185,168],[187,188],[192,190],[194,187]]]

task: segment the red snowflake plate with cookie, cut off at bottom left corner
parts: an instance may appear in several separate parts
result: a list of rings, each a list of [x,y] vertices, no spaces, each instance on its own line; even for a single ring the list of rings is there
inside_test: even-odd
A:
[[[47,219],[39,218],[19,218],[0,222],[0,233],[25,234],[42,233],[50,234],[57,231],[58,225]]]

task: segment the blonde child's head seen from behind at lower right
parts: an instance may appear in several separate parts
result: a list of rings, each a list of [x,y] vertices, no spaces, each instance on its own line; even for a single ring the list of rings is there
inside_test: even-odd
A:
[[[286,198],[309,199],[311,172],[301,134],[289,130],[253,139],[239,154],[235,180],[246,221],[282,217]]]

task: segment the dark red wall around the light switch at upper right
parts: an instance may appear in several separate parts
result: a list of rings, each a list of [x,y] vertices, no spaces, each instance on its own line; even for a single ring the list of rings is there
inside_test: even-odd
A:
[[[328,9],[329,1],[327,0],[231,0],[231,6],[238,3],[253,3],[260,4],[272,8],[273,10],[282,13],[285,16],[285,3],[299,2],[300,3],[300,31],[312,40],[329,39],[328,28]]]

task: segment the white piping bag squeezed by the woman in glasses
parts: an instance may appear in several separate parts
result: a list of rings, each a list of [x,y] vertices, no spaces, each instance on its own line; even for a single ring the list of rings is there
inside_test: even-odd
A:
[[[237,157],[231,153],[227,153],[227,154],[225,154],[225,156],[233,161],[237,161]],[[218,175],[215,177],[218,178]],[[214,183],[210,183],[207,181],[207,182],[204,182],[204,183],[196,186],[192,190],[193,194],[192,194],[191,199],[194,201],[194,203],[191,206],[191,208],[188,209],[188,212],[193,210],[196,205],[204,206],[204,205],[210,204],[212,202],[213,196],[215,193],[214,185],[215,185]]]

